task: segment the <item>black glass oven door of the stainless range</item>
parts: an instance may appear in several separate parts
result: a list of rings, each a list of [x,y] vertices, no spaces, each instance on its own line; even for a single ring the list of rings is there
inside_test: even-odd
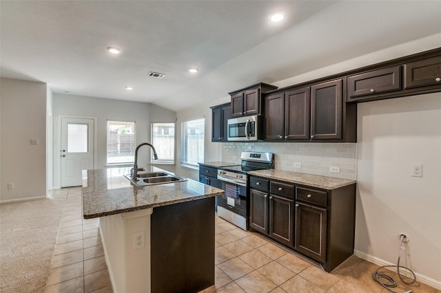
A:
[[[218,196],[218,206],[222,206],[233,213],[248,218],[247,215],[247,187],[221,181],[223,195]]]

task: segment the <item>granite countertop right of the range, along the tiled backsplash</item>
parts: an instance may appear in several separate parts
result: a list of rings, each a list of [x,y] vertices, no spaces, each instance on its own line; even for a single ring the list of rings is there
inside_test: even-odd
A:
[[[340,179],[276,169],[249,171],[248,174],[327,190],[332,190],[356,183],[356,180]]]

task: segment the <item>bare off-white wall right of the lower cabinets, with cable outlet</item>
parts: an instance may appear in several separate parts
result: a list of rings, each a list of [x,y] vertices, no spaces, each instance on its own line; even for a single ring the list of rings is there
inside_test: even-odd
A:
[[[359,104],[356,251],[396,263],[407,233],[402,265],[440,284],[440,179],[441,93]]]

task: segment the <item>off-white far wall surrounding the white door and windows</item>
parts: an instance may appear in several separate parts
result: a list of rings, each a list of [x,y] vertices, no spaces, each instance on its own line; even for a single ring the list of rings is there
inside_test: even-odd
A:
[[[136,144],[150,142],[151,122],[174,122],[176,112],[143,102],[127,102],[105,98],[92,98],[67,94],[54,94],[54,187],[60,186],[59,116],[83,116],[97,118],[96,168],[107,164],[107,120],[136,121]],[[150,151],[139,150],[138,166],[150,163]],[[174,172],[173,165],[158,165]]]

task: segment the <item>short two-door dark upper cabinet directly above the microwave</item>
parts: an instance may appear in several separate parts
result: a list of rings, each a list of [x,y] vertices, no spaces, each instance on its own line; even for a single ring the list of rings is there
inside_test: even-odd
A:
[[[232,117],[261,115],[263,113],[262,94],[271,89],[277,89],[277,87],[266,83],[257,83],[251,87],[230,92]]]

